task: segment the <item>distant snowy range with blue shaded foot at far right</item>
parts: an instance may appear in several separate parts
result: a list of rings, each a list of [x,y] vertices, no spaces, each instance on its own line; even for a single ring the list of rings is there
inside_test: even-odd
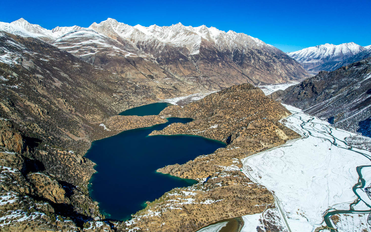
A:
[[[333,71],[343,65],[371,56],[371,45],[362,47],[356,43],[333,45],[326,43],[287,53],[308,72]]]

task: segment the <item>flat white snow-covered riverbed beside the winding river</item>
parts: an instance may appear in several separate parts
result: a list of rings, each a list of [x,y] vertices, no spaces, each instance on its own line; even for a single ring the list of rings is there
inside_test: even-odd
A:
[[[275,195],[290,231],[314,231],[324,225],[326,210],[349,210],[357,200],[352,190],[358,183],[356,167],[370,165],[371,153],[344,142],[353,133],[331,127],[298,108],[286,108],[293,115],[283,124],[302,138],[243,159],[244,171]],[[371,175],[368,169],[364,171],[365,182],[370,183]],[[362,200],[354,208],[369,209],[364,188],[356,192]]]

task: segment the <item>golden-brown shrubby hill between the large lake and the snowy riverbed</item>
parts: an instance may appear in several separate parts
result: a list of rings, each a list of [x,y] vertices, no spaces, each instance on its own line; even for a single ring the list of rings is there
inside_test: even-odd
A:
[[[198,156],[185,164],[158,171],[199,180],[188,187],[173,189],[132,220],[118,225],[126,231],[196,231],[221,219],[263,212],[274,208],[265,187],[251,182],[241,171],[240,159],[299,135],[277,120],[288,115],[278,102],[250,84],[232,86],[185,105],[170,106],[161,117],[191,117],[187,124],[170,124],[154,134],[190,134],[224,141],[228,145],[214,154]],[[210,177],[206,182],[206,177]]]

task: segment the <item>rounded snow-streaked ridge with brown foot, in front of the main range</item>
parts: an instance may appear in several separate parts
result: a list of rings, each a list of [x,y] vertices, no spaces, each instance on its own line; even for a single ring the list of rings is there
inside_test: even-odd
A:
[[[82,29],[60,37],[52,45],[117,73],[122,79],[138,86],[137,91],[151,91],[157,98],[221,88],[210,80],[174,75],[159,66],[151,56],[138,52],[132,43],[119,41],[91,29]]]

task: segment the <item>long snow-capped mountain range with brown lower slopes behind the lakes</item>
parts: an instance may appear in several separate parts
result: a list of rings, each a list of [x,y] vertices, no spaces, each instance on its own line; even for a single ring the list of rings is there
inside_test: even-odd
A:
[[[249,82],[279,83],[308,73],[286,53],[244,33],[205,25],[130,26],[108,18],[79,26],[45,29],[24,19],[0,22],[0,30],[35,37],[118,75],[140,73],[213,82],[224,88]],[[140,66],[140,68],[138,67]],[[148,72],[148,70],[150,72]],[[143,79],[143,78],[142,78]]]

